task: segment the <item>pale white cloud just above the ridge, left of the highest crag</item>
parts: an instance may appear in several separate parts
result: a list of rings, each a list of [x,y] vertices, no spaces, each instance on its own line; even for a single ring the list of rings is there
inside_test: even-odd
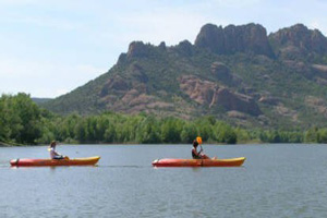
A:
[[[206,16],[193,9],[152,9],[144,13],[133,12],[129,16],[117,17],[123,27],[117,40],[124,44],[143,40],[152,44],[166,41],[177,45],[181,40],[194,40],[201,26],[207,22]]]

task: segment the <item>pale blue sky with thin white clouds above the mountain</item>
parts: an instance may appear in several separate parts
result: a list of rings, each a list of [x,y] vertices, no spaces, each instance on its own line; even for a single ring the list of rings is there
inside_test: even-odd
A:
[[[298,23],[327,36],[327,0],[0,0],[0,94],[55,98],[106,73],[130,43],[194,43],[207,23]]]

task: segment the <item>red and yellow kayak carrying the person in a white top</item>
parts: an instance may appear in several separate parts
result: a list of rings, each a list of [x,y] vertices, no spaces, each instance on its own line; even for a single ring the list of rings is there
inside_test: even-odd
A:
[[[100,157],[84,157],[75,159],[13,159],[10,161],[12,167],[51,167],[51,166],[85,166],[95,165]]]

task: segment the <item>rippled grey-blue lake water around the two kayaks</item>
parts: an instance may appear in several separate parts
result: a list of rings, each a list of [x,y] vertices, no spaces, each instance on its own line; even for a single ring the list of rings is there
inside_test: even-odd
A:
[[[98,167],[11,168],[46,146],[0,147],[0,217],[327,217],[327,145],[205,145],[240,168],[153,168],[191,145],[66,145]]]

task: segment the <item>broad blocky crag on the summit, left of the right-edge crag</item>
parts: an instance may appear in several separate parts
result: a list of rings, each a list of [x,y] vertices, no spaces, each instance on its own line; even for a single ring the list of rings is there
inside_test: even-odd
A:
[[[258,24],[229,25],[225,28],[206,24],[197,35],[195,46],[218,55],[247,52],[274,57],[267,32]]]

